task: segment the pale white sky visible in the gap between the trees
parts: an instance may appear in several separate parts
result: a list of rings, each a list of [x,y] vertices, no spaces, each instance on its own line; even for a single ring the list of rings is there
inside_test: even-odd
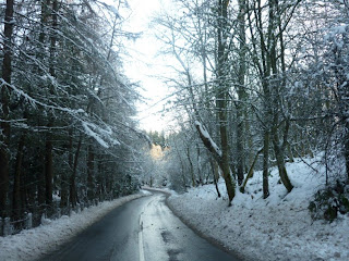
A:
[[[160,42],[149,26],[152,17],[164,7],[164,0],[128,0],[132,13],[125,23],[125,29],[141,33],[136,41],[128,42],[130,57],[124,63],[125,74],[131,80],[139,82],[143,102],[139,102],[140,127],[147,132],[163,130],[169,124],[169,117],[161,112],[169,95],[167,86],[159,76],[166,71],[166,61],[158,54]]]

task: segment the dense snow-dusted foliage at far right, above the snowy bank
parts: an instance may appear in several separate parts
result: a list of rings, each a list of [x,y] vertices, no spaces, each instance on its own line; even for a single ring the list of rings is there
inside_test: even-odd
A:
[[[333,1],[326,9],[318,4],[309,13],[313,33],[303,38],[299,78],[293,84],[294,91],[305,89],[304,97],[298,98],[304,108],[301,117],[312,121],[306,124],[312,147],[325,151],[327,183],[330,177],[341,178],[340,169],[346,169],[349,177],[348,10],[348,1]]]

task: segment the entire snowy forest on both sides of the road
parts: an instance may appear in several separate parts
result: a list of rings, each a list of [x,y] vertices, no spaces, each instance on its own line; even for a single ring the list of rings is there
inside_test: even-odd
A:
[[[171,61],[158,77],[176,125],[146,133],[123,71],[124,40],[139,37],[122,27],[128,1],[0,1],[0,234],[144,184],[222,177],[233,204],[262,171],[266,199],[273,166],[293,189],[294,158],[317,157],[324,191],[338,191],[326,211],[349,212],[349,1],[171,2],[149,27]]]

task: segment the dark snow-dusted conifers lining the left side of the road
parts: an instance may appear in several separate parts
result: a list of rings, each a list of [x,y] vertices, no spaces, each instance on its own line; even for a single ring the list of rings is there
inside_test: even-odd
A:
[[[20,229],[25,213],[38,225],[135,191],[143,140],[122,73],[122,40],[135,37],[122,30],[122,1],[0,7],[0,217]]]

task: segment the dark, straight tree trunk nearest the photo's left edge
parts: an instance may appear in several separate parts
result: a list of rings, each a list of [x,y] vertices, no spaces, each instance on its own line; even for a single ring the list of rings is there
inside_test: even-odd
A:
[[[10,123],[9,120],[9,100],[10,88],[7,85],[11,84],[12,74],[12,35],[13,35],[13,7],[14,0],[7,0],[7,8],[4,14],[4,29],[3,29],[3,60],[2,60],[2,79],[1,83],[1,116],[3,120],[0,123],[0,217],[5,217],[7,201],[9,191],[9,144],[10,144]],[[1,228],[1,227],[0,227]]]

